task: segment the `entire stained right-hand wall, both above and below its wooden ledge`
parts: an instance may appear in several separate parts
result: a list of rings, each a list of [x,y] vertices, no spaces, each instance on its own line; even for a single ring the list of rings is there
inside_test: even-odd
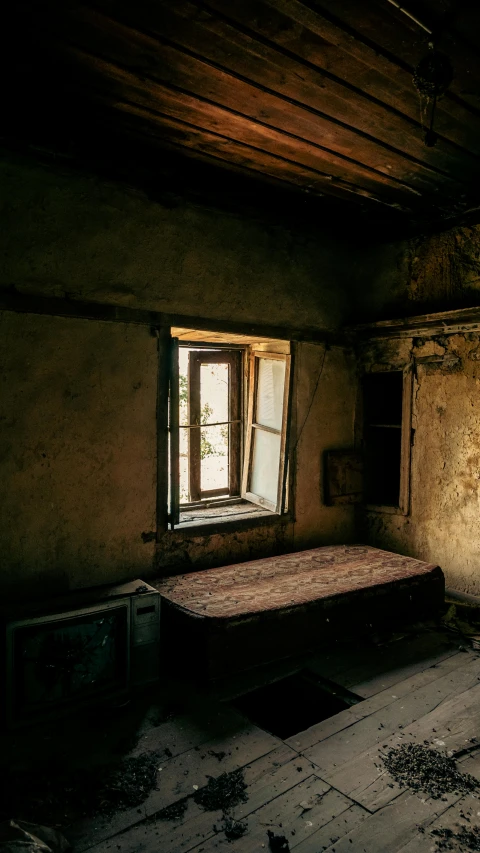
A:
[[[367,247],[354,322],[408,318],[477,306],[480,225]],[[448,332],[448,329],[446,329]],[[370,544],[439,563],[447,584],[480,594],[480,340],[456,335],[372,340],[359,369],[411,364],[414,371],[411,511],[367,513]]]

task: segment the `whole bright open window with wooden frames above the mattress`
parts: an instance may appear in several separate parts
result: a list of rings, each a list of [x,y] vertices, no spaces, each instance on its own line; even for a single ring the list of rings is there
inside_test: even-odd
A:
[[[283,513],[289,353],[182,339],[172,353],[170,526]]]

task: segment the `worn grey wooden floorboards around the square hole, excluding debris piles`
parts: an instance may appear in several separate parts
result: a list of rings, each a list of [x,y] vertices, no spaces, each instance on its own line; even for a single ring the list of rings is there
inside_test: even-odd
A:
[[[131,754],[163,751],[157,790],[139,809],[70,827],[74,850],[261,853],[269,850],[268,830],[285,835],[296,853],[436,850],[430,830],[480,824],[480,800],[452,794],[434,800],[401,789],[379,751],[402,741],[457,751],[480,735],[480,655],[459,642],[432,630],[309,660],[365,701],[287,741],[220,701],[245,689],[239,679],[187,714],[144,724]],[[298,662],[279,665],[269,677],[282,666],[294,669]],[[480,779],[480,749],[461,766]],[[232,813],[247,830],[229,841],[221,812],[204,811],[193,795],[209,777],[237,768],[244,771],[247,800]],[[183,798],[183,814],[162,819],[161,810]]]

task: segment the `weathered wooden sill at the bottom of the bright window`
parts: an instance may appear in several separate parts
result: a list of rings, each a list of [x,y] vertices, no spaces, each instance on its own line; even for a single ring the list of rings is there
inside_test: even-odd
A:
[[[172,532],[201,531],[202,533],[227,532],[260,525],[286,523],[291,515],[278,515],[248,501],[230,505],[211,505],[180,511],[180,524]]]

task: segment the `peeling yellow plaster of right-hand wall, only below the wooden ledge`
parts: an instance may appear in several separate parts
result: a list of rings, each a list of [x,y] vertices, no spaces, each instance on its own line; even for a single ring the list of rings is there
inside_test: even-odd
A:
[[[409,516],[369,512],[372,545],[439,563],[447,586],[480,594],[480,336],[377,341],[367,370],[415,365]]]

